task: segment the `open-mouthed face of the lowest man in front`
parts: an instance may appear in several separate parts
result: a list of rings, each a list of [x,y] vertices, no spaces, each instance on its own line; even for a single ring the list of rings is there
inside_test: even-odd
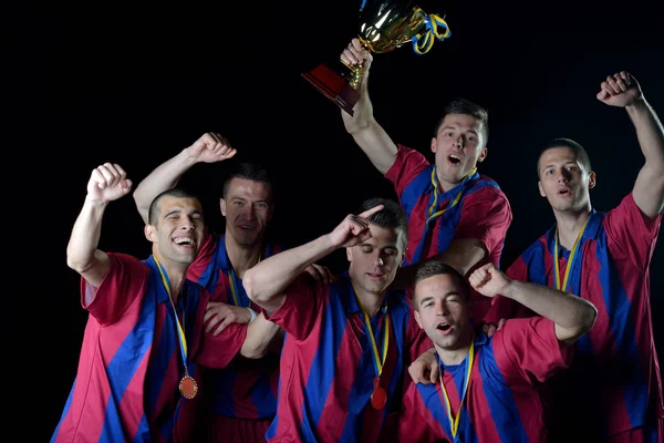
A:
[[[415,320],[440,349],[455,350],[473,333],[468,295],[449,274],[427,277],[415,285]]]

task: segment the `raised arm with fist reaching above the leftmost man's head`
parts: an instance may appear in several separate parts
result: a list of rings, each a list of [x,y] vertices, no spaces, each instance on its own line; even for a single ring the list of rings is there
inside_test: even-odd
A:
[[[217,133],[203,134],[191,146],[154,169],[136,186],[134,202],[143,222],[147,223],[149,205],[164,190],[172,189],[181,176],[197,163],[215,163],[230,158],[237,151]]]

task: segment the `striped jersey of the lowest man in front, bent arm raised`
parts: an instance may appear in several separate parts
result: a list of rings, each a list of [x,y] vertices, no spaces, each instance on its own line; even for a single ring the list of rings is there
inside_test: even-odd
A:
[[[478,330],[463,405],[468,359],[456,365],[439,361],[452,415],[456,416],[460,409],[456,439],[437,382],[409,385],[398,421],[398,441],[546,442],[547,426],[538,389],[568,367],[571,354],[559,344],[553,322],[542,317],[509,320],[490,339]]]

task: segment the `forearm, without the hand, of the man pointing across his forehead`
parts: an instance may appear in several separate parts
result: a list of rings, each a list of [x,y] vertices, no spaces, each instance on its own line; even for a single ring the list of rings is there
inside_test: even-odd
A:
[[[258,306],[266,308],[307,269],[338,248],[329,235],[321,236],[305,245],[287,249],[259,261],[248,269],[242,278],[247,296]]]

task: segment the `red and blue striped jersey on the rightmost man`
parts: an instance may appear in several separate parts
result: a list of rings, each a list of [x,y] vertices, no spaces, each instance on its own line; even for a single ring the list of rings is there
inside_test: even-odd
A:
[[[664,416],[649,284],[661,222],[662,214],[644,217],[630,194],[608,213],[593,210],[580,239],[569,291],[591,301],[598,318],[577,342],[572,367],[551,380],[550,390],[553,420],[589,439]],[[554,245],[553,226],[510,266],[508,276],[556,287]],[[561,274],[569,256],[560,248]],[[528,315],[520,305],[497,297],[487,319]]]

